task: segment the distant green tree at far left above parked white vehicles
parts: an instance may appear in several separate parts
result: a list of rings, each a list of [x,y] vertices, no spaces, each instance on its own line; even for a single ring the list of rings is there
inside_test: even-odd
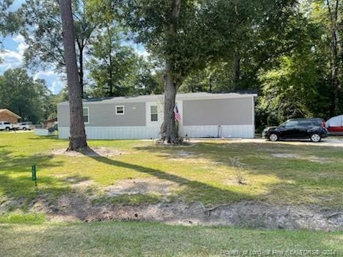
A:
[[[25,69],[9,69],[0,76],[0,106],[37,123],[47,119],[56,108],[44,80],[34,80]]]

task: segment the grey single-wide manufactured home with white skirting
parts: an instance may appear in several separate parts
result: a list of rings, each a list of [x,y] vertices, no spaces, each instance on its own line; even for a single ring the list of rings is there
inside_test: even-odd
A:
[[[179,134],[189,138],[253,138],[257,94],[177,94]],[[164,96],[84,99],[89,139],[159,138]],[[59,138],[69,138],[69,103],[57,105]]]

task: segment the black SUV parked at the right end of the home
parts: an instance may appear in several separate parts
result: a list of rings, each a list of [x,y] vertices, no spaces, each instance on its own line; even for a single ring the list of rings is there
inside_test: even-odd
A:
[[[271,141],[279,139],[309,138],[319,142],[327,137],[327,128],[323,119],[290,119],[277,127],[268,127],[262,132],[262,137]]]

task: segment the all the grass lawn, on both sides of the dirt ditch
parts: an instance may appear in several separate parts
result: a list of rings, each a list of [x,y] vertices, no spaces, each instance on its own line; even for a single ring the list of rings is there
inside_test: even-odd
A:
[[[46,222],[44,213],[23,214],[38,196],[53,202],[74,192],[77,181],[92,182],[84,193],[95,193],[98,203],[168,200],[217,206],[256,200],[342,208],[343,148],[296,144],[219,140],[168,147],[151,141],[89,141],[93,148],[115,148],[123,154],[75,157],[51,155],[54,149],[68,146],[65,140],[0,132],[0,207],[9,200],[17,203],[0,216],[0,256],[230,256],[235,250],[249,251],[250,256],[266,256],[270,251],[274,256],[297,251],[299,256],[302,250],[314,251],[303,256],[330,256],[332,251],[343,256],[342,232],[134,221],[54,223]],[[293,158],[278,158],[274,153]],[[38,167],[37,188],[31,181],[33,164]],[[172,183],[172,193],[104,195],[103,188],[123,179],[145,178]]]

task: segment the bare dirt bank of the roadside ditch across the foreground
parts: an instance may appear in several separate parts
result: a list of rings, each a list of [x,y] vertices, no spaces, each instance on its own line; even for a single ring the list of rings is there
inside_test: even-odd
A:
[[[343,229],[343,211],[318,206],[274,206],[257,201],[241,201],[206,208],[202,203],[158,203],[139,206],[92,204],[82,196],[68,194],[57,206],[49,206],[50,221],[160,221],[182,225],[224,225],[249,228]]]

